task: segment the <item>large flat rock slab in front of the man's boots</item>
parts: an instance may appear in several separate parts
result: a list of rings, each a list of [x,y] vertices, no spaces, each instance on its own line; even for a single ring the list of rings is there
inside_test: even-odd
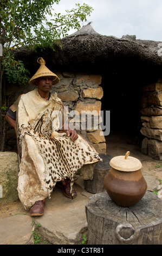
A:
[[[36,223],[41,224],[40,233],[54,245],[77,245],[87,232],[85,204],[89,197],[82,196],[79,185],[74,188],[77,197],[70,200],[56,186],[51,199],[46,199],[44,215],[36,217]]]

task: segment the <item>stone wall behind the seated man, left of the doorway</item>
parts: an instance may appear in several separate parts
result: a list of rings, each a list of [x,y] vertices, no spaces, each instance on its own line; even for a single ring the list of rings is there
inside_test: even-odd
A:
[[[73,72],[55,73],[60,77],[60,82],[53,86],[51,93],[56,92],[64,106],[68,107],[71,114],[69,121],[77,132],[87,139],[99,154],[106,154],[105,137],[100,127],[101,99],[103,96],[103,89],[100,86],[102,77],[100,75],[74,74]],[[14,88],[13,91],[12,88]],[[12,94],[11,101],[14,102],[20,94],[27,93],[32,89],[34,88],[31,86],[17,88],[10,86],[7,88],[7,94]],[[86,114],[91,112],[94,115],[92,118],[89,115],[84,116],[82,111],[85,111]],[[78,115],[77,118],[75,115]],[[98,124],[94,127],[96,117],[98,117]],[[92,121],[92,127],[87,126],[90,121]],[[8,131],[7,145],[11,147],[11,145],[16,144],[15,142],[16,137],[13,136],[13,131]]]

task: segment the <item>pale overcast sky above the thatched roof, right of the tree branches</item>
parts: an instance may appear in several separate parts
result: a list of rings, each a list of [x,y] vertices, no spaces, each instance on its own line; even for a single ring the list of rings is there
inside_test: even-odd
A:
[[[60,0],[54,4],[56,13],[75,8],[75,3],[86,3],[93,7],[87,17],[92,27],[101,35],[136,35],[137,39],[162,41],[161,0]],[[76,32],[70,31],[69,34]]]

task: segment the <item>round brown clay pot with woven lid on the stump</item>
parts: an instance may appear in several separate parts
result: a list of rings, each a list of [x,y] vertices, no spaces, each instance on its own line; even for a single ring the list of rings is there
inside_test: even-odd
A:
[[[104,186],[111,199],[119,206],[129,207],[139,202],[147,190],[141,173],[142,164],[135,157],[116,156],[109,162],[112,167],[104,179]]]

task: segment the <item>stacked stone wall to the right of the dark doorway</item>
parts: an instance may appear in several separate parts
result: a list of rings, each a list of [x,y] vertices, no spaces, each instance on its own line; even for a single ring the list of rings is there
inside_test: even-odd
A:
[[[162,80],[141,88],[141,133],[145,136],[141,152],[162,159]]]

